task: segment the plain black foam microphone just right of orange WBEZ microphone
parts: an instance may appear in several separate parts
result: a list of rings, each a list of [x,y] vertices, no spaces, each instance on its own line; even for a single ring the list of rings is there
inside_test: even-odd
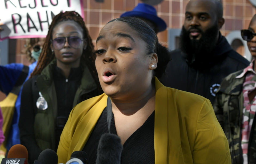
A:
[[[58,163],[58,155],[55,151],[51,149],[43,150],[37,160],[34,161],[34,164],[57,164]]]

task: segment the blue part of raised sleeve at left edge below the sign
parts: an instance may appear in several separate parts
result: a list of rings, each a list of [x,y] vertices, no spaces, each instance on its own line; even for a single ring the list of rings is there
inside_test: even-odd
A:
[[[13,89],[21,71],[23,69],[21,63],[11,63],[6,66],[0,66],[0,91],[6,95]]]

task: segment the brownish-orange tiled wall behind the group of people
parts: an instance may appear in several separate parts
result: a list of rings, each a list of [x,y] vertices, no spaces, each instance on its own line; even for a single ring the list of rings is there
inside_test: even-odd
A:
[[[140,0],[104,0],[104,3],[95,0],[83,0],[85,23],[95,44],[101,28],[111,19],[118,18],[125,11],[132,10]],[[185,18],[185,8],[189,0],[164,0],[154,6],[158,16],[165,20],[168,28],[181,28]],[[248,0],[222,0],[223,17],[225,24],[221,29],[223,35],[231,30],[247,29],[252,16],[256,13],[255,7]],[[158,34],[159,41],[167,44],[167,30]],[[16,62],[29,65],[25,54],[22,53],[25,39],[17,40]],[[1,93],[0,93],[1,100]]]

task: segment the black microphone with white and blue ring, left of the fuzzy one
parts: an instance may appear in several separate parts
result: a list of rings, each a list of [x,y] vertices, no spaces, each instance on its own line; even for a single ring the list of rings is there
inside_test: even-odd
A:
[[[88,164],[87,153],[85,153],[84,151],[74,151],[71,154],[70,160],[67,161],[66,164]]]

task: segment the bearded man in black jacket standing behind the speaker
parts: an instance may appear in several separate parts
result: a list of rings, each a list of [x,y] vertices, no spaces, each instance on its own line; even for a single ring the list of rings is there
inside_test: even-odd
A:
[[[163,85],[199,94],[213,104],[222,79],[249,65],[221,35],[222,16],[219,0],[189,1],[180,46],[172,51]]]

